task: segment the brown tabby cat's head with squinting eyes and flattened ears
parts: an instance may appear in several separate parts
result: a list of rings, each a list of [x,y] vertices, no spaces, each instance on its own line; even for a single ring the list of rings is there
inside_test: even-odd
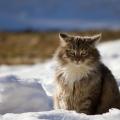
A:
[[[94,36],[73,36],[60,33],[60,47],[57,58],[62,64],[91,65],[99,61],[100,55],[96,43],[101,39],[101,34]]]

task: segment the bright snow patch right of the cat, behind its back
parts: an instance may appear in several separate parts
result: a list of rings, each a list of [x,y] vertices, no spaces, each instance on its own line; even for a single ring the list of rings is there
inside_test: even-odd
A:
[[[120,40],[98,46],[103,62],[109,67],[120,85]]]

